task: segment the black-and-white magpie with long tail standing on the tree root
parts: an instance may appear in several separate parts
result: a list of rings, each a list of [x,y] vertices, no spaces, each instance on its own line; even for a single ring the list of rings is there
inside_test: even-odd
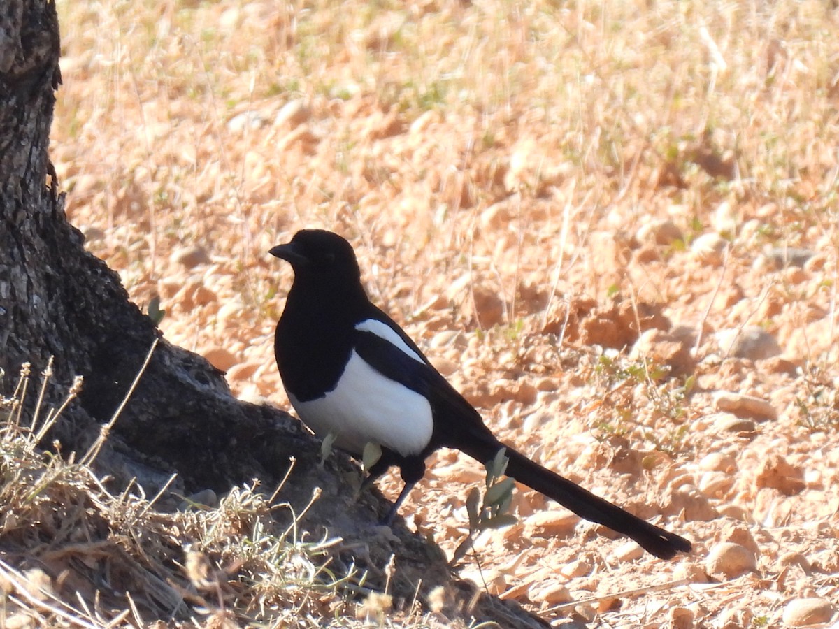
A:
[[[274,336],[279,375],[294,410],[320,438],[357,459],[367,444],[382,454],[368,486],[391,466],[404,488],[386,523],[425,475],[425,459],[441,447],[480,462],[506,448],[507,474],[578,516],[628,535],[670,559],[690,552],[685,538],[633,516],[496,439],[420,348],[362,286],[352,246],[331,231],[305,229],[269,252],[291,264],[294,281]]]

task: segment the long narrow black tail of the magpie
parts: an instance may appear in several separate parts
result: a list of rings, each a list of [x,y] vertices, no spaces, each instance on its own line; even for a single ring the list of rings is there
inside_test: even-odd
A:
[[[461,444],[461,450],[481,462],[491,460],[498,450],[506,448],[509,459],[507,476],[512,476],[516,481],[545,494],[586,520],[597,522],[633,538],[656,557],[671,559],[676,553],[690,552],[690,542],[685,538],[633,516],[632,513],[603,500],[600,496],[595,496],[567,478],[534,463],[500,441],[493,444],[488,439],[476,439],[469,445],[470,447],[464,448]]]

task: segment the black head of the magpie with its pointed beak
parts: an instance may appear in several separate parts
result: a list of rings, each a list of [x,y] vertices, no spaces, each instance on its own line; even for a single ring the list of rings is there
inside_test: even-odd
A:
[[[277,245],[268,253],[291,264],[295,282],[358,283],[361,278],[352,245],[331,231],[300,230],[291,242]]]

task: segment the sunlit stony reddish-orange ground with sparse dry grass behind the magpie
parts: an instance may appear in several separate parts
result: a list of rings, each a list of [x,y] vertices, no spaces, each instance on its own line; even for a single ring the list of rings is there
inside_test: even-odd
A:
[[[619,543],[579,527],[532,534],[545,503],[524,493],[524,524],[478,544],[503,595],[559,618],[557,581],[581,600],[687,575],[678,595],[581,607],[638,625],[682,609],[772,625],[787,600],[836,600],[827,3],[102,0],[60,17],[70,219],[138,304],[160,296],[170,340],[286,404],[271,336],[290,275],[265,252],[341,231],[371,294],[503,439],[697,541],[681,563],[614,559]],[[725,250],[695,246],[708,234]],[[772,247],[813,255],[776,267]],[[604,354],[644,321],[692,330],[696,366],[665,377],[654,356]],[[717,346],[746,325],[789,364]],[[779,418],[720,430],[717,390]],[[768,480],[767,452],[797,491]],[[414,525],[451,552],[476,468],[432,463]],[[706,550],[732,538],[753,540],[758,571],[708,585]]]

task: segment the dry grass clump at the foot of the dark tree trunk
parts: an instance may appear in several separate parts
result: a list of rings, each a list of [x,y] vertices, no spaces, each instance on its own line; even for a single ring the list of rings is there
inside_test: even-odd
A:
[[[60,412],[42,409],[43,424],[21,413],[28,369],[15,397],[0,398],[0,626],[369,626],[389,611],[364,574],[332,573],[341,539],[310,540],[301,514],[279,524],[282,487],[160,511],[160,496],[115,494],[90,465],[39,451]],[[437,626],[411,609],[379,626],[393,622]]]

